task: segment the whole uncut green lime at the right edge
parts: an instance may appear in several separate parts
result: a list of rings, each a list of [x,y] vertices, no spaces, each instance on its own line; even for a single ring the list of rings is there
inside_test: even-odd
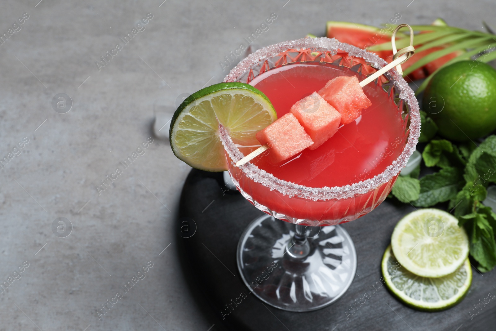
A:
[[[424,92],[423,108],[448,139],[488,135],[496,129],[496,70],[477,61],[440,69]]]

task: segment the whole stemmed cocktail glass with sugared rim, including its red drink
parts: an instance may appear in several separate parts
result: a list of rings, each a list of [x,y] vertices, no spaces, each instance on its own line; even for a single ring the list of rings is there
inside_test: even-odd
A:
[[[335,39],[306,38],[256,51],[225,81],[252,84],[281,118],[330,79],[356,75],[363,80],[385,65],[376,55]],[[387,71],[363,91],[372,105],[361,117],[340,127],[317,148],[304,149],[282,164],[271,164],[270,157],[261,154],[236,167],[258,146],[236,145],[219,126],[233,182],[244,198],[273,216],[253,220],[237,250],[245,285],[273,307],[307,312],[345,293],[356,273],[357,255],[350,235],[337,224],[382,202],[415,150],[419,106],[401,75]],[[260,274],[266,272],[271,272],[270,278],[262,282]]]

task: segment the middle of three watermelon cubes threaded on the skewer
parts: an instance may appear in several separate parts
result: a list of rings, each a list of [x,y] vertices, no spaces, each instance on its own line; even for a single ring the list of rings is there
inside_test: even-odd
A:
[[[317,92],[303,98],[291,107],[290,112],[310,135],[315,149],[338,131],[341,114],[329,105]]]

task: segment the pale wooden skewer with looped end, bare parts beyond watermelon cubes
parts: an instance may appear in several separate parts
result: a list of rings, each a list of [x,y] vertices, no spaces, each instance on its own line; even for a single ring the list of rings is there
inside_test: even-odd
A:
[[[396,32],[398,32],[398,30],[404,26],[406,26],[410,29],[410,46],[402,48],[401,50],[396,52],[396,42],[395,42]],[[415,53],[415,48],[413,47],[413,29],[410,27],[410,25],[408,25],[408,24],[398,25],[396,27],[396,29],[394,29],[393,35],[391,36],[391,44],[392,44],[392,48],[393,48],[393,52],[394,52],[393,61],[391,63],[387,64],[386,66],[383,66],[379,70],[375,71],[374,73],[372,73],[370,76],[368,76],[364,80],[362,80],[360,82],[361,87],[364,87],[365,85],[371,83],[372,81],[377,79],[377,77],[379,77],[382,74],[384,74],[385,72],[391,70],[395,66],[396,66],[396,70],[400,74],[403,74],[403,71],[401,70],[401,64],[406,62],[408,59],[410,59],[410,57]],[[261,147],[258,147],[257,149],[255,149],[254,151],[249,153],[247,156],[245,156],[244,158],[242,158],[241,160],[236,162],[235,166],[241,167],[242,165],[248,163],[249,161],[251,161],[252,159],[257,157],[258,155],[260,155],[261,153],[266,151],[267,149],[269,149],[269,146],[267,146],[267,145],[263,145]]]

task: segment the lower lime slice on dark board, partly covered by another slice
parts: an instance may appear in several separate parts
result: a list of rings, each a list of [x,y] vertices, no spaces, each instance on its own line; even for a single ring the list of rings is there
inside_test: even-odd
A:
[[[389,246],[382,257],[382,275],[387,288],[412,308],[438,311],[459,303],[472,283],[470,262],[465,259],[455,272],[438,278],[421,277],[405,269]]]

